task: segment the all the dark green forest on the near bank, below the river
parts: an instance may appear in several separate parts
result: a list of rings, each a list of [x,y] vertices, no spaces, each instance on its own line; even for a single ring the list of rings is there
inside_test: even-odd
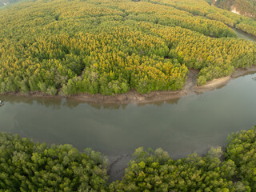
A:
[[[162,150],[134,152],[120,181],[107,181],[107,158],[91,149],[31,142],[0,134],[0,191],[236,191],[256,190],[256,126],[227,146],[173,160]]]

